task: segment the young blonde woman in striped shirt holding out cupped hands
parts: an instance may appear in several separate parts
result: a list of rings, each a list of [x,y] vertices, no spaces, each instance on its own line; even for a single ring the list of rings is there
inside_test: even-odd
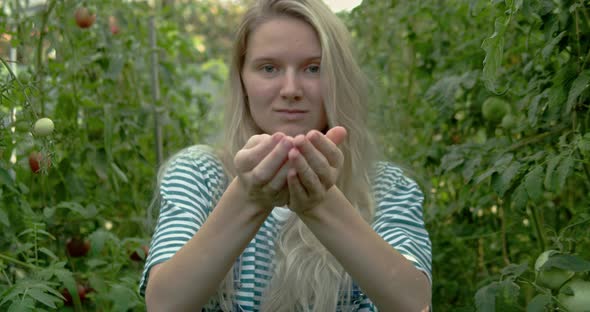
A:
[[[160,170],[148,311],[422,311],[423,196],[374,160],[366,82],[321,0],[261,0],[238,29],[225,140]]]

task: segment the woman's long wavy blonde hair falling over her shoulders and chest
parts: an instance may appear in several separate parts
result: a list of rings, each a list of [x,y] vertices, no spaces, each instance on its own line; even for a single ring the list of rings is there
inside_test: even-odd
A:
[[[234,41],[229,76],[230,98],[225,111],[224,147],[220,158],[230,177],[235,176],[234,155],[260,132],[242,84],[241,70],[248,37],[261,24],[277,17],[292,17],[309,24],[322,48],[321,81],[328,128],[348,131],[340,146],[345,163],[336,183],[367,222],[374,216],[370,187],[374,144],[366,126],[367,80],[356,63],[345,25],[321,0],[260,0],[245,14]],[[321,130],[321,129],[319,129]],[[263,311],[335,311],[338,300],[350,300],[351,279],[313,233],[292,216],[275,246],[273,275],[262,298]],[[231,309],[233,272],[220,285],[218,298]]]

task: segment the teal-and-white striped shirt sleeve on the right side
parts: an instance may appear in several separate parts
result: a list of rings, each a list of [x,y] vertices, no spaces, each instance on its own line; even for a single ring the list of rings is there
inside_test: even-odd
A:
[[[432,285],[432,244],[426,230],[420,187],[390,163],[379,163],[374,181],[373,228],[426,274]]]

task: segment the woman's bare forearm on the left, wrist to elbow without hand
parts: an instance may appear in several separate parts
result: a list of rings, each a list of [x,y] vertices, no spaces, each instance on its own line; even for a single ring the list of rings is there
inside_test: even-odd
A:
[[[269,213],[246,203],[234,179],[199,231],[170,260],[152,269],[148,311],[199,311]]]

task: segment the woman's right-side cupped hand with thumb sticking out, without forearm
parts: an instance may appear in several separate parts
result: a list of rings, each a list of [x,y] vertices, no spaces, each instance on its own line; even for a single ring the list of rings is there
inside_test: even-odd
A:
[[[338,145],[345,137],[346,129],[334,127],[326,135],[312,130],[293,139],[294,148],[288,154],[289,209],[305,213],[323,201],[344,163]]]

